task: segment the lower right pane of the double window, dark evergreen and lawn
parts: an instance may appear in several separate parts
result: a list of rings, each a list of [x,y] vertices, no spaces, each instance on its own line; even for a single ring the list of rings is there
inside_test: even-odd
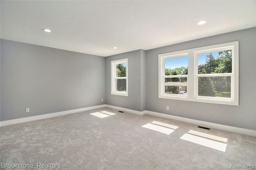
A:
[[[198,96],[231,98],[231,77],[198,77]]]

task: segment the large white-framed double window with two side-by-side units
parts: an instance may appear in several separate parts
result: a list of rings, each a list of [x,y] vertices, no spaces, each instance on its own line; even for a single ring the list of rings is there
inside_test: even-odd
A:
[[[159,98],[238,105],[238,42],[159,56]]]

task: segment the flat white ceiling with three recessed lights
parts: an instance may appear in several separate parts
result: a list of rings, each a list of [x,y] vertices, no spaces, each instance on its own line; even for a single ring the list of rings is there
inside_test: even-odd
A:
[[[0,6],[2,39],[104,57],[256,27],[256,0],[1,0]]]

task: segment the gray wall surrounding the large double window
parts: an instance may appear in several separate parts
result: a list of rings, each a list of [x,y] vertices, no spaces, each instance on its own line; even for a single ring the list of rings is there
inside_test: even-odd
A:
[[[239,41],[239,106],[158,98],[158,54]],[[146,51],[146,110],[256,130],[256,27]],[[166,110],[166,106],[170,110]]]

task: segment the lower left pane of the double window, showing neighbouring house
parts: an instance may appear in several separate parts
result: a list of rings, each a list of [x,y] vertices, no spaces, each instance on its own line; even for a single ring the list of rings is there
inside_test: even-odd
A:
[[[165,91],[166,94],[187,94],[187,78],[186,77],[175,77],[165,78]]]

